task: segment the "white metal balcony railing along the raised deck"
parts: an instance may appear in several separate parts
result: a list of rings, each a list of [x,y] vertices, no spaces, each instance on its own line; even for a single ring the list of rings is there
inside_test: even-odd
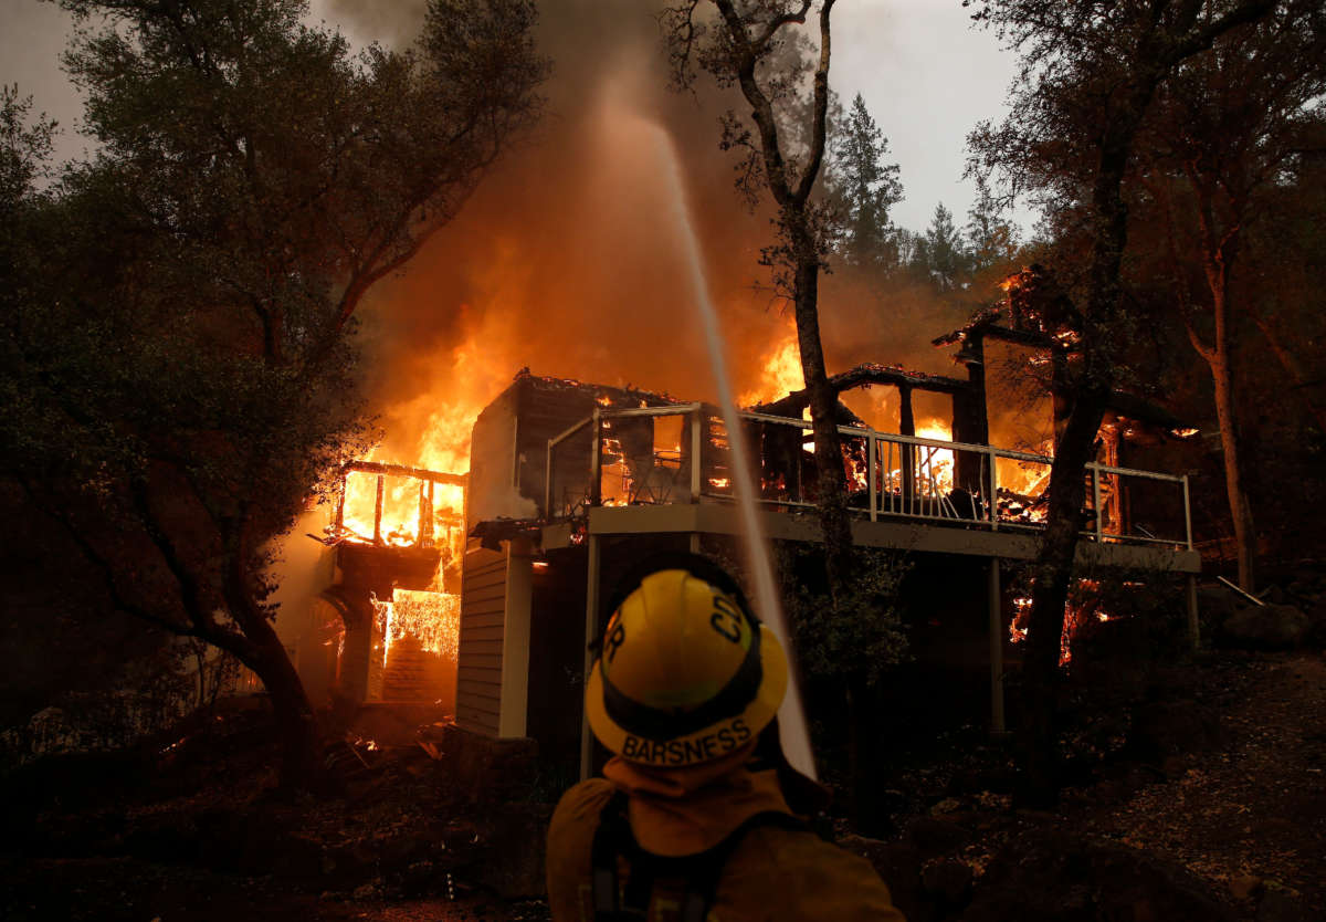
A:
[[[814,507],[806,419],[740,414],[770,509]],[[923,520],[989,531],[1036,531],[1045,517],[1053,458],[987,444],[839,426],[849,504],[879,520]],[[731,501],[727,430],[716,407],[683,403],[595,410],[548,442],[544,509],[575,517],[598,505]],[[1083,535],[1192,549],[1188,478],[1086,467]]]

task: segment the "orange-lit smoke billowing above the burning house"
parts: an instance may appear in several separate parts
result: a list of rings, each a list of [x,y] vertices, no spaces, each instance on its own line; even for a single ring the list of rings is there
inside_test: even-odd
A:
[[[366,383],[386,432],[375,456],[465,470],[469,421],[521,367],[712,399],[679,240],[660,220],[671,203],[654,126],[678,150],[739,393],[793,336],[758,265],[770,211],[747,210],[736,161],[719,150],[719,117],[748,107],[736,90],[668,89],[656,7],[540,4],[538,45],[554,62],[540,127],[363,310]],[[423,16],[414,0],[325,8],[350,34],[395,44]],[[830,371],[882,361],[952,373],[930,340],[961,318],[919,289],[883,297],[829,276],[821,317]]]

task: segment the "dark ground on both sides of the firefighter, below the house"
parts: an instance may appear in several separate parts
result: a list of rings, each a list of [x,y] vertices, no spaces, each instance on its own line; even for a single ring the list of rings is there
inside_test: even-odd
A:
[[[1326,918],[1322,653],[1209,654],[1159,670],[1130,708],[1127,731],[1109,707],[1070,720],[1055,813],[1016,809],[1006,750],[959,732],[948,755],[899,764],[891,836],[841,838],[914,922]],[[528,754],[465,754],[444,734],[432,751],[343,746],[341,792],[289,803],[263,791],[257,718],[220,723],[146,785],[107,763],[8,785],[0,917],[546,918],[517,897],[537,889],[561,779],[483,761]],[[455,759],[485,789],[459,789]]]

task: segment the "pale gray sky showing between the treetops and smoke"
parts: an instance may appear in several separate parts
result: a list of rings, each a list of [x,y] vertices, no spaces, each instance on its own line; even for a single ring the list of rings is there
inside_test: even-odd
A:
[[[316,11],[328,5],[334,4],[314,3]],[[58,69],[69,28],[54,4],[0,0],[0,81],[17,82],[60,121],[66,157],[85,146],[73,134],[77,93]],[[969,28],[960,0],[842,0],[834,9],[830,81],[845,102],[862,93],[888,137],[907,196],[894,208],[903,227],[924,228],[937,202],[965,223],[972,199],[961,179],[965,137],[977,121],[1002,114],[1012,76],[1012,57],[993,36]]]

